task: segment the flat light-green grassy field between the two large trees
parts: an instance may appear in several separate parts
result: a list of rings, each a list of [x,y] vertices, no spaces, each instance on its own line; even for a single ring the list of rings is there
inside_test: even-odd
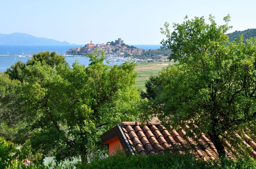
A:
[[[145,89],[145,82],[148,78],[156,76],[163,68],[166,68],[171,62],[162,61],[162,62],[140,62],[137,63],[135,67],[135,72],[138,73],[136,78],[135,87],[139,89]]]

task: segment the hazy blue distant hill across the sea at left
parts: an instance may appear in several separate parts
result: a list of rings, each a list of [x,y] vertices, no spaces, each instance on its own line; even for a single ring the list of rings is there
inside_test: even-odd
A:
[[[69,44],[69,42],[60,42],[54,39],[37,38],[24,33],[0,34],[0,44]]]

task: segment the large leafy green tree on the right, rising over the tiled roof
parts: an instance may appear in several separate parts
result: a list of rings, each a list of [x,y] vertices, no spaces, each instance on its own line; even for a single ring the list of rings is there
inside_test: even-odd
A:
[[[169,59],[179,63],[159,74],[163,91],[152,102],[163,124],[193,122],[208,133],[221,156],[226,154],[222,142],[234,133],[245,126],[256,133],[256,38],[230,42],[230,16],[220,26],[211,15],[209,21],[185,17],[174,23],[172,33],[168,23],[161,28],[167,38],[161,44],[172,50]]]

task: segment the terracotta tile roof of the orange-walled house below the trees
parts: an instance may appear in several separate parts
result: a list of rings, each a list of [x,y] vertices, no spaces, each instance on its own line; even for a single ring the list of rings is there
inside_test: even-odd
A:
[[[128,140],[132,151],[142,156],[147,154],[163,154],[167,151],[176,151],[182,154],[186,150],[190,150],[199,158],[203,158],[204,161],[218,158],[217,149],[206,134],[196,135],[193,133],[191,137],[184,137],[186,131],[191,131],[189,127],[184,130],[179,129],[178,131],[172,129],[169,132],[159,122],[144,124],[139,122],[122,122],[119,126],[124,132],[125,139]],[[236,137],[241,139],[242,143],[250,148],[248,152],[255,158],[256,144],[253,139],[245,133],[237,133]],[[234,148],[227,141],[223,145],[228,152],[228,156],[231,158],[236,156]]]

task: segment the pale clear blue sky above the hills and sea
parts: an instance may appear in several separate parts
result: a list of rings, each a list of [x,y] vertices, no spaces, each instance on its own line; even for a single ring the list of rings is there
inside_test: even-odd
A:
[[[255,0],[0,0],[0,33],[75,44],[159,44],[160,27],[209,14],[218,25],[230,14],[235,30],[256,28]],[[173,30],[170,27],[170,30]]]

